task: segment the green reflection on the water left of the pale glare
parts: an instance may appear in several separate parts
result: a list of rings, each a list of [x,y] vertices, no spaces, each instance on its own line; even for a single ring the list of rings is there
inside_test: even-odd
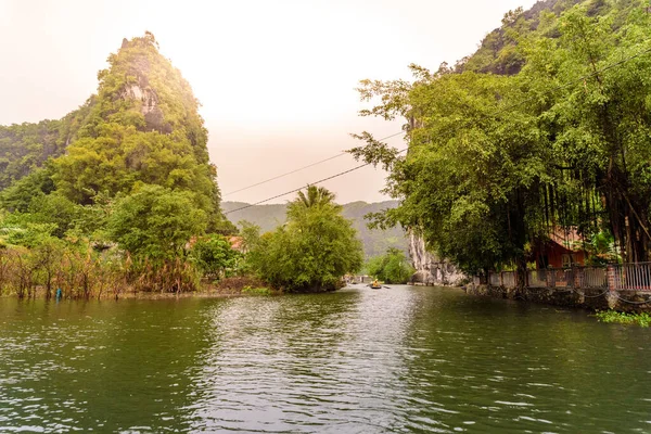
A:
[[[0,301],[0,432],[176,431],[209,345],[197,303]]]

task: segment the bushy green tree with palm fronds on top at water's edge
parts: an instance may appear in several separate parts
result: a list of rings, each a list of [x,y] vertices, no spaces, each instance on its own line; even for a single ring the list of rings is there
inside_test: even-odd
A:
[[[288,222],[260,237],[247,255],[260,278],[289,292],[335,290],[362,263],[357,231],[332,203],[334,195],[326,189],[315,195],[310,188],[288,207]]]

